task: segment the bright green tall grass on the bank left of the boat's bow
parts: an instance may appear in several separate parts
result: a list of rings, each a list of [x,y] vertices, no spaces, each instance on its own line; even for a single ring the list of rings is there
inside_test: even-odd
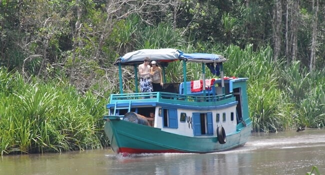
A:
[[[0,70],[0,75],[5,74]],[[91,93],[83,96],[63,81],[12,83],[18,73],[1,76],[1,155],[97,149],[106,146],[101,121],[104,102]],[[13,86],[12,86],[13,87]],[[10,91],[12,93],[7,93]],[[103,145],[102,145],[103,144]]]

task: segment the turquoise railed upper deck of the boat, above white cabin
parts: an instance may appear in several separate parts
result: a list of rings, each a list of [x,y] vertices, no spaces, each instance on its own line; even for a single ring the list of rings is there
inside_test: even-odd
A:
[[[110,102],[107,104],[107,107],[116,107],[117,102],[118,104],[124,104],[125,106],[125,104],[128,103],[143,101],[195,106],[221,105],[229,103],[233,100],[233,88],[235,87],[233,84],[238,84],[246,80],[247,78],[225,80],[225,93],[222,93],[222,90],[220,88],[221,80],[215,80],[214,85],[210,88],[212,90],[204,90],[200,93],[184,94],[184,91],[179,88],[182,86],[182,84],[168,83],[166,84],[167,88],[164,88],[163,92],[111,94]],[[178,91],[178,89],[180,89],[180,91]]]

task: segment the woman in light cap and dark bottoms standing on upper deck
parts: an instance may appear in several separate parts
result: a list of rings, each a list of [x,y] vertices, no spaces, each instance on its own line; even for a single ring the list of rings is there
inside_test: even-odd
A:
[[[161,92],[162,91],[162,74],[161,74],[161,68],[157,66],[155,61],[151,61],[151,68],[150,68],[150,74],[151,81],[152,81],[152,87],[153,92]]]

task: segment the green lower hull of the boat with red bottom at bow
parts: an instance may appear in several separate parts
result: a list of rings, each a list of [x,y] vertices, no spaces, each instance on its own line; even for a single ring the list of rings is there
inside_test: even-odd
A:
[[[105,117],[104,131],[111,149],[116,153],[213,153],[243,146],[251,132],[251,123],[226,135],[226,143],[220,144],[217,137],[187,137],[161,131],[145,125]],[[241,124],[238,124],[241,125]]]

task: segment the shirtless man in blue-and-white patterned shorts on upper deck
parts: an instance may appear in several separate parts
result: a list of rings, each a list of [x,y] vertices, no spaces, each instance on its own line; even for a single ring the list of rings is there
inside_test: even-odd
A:
[[[138,66],[140,74],[140,90],[141,92],[152,92],[152,83],[150,79],[150,58],[145,57],[144,62]]]

